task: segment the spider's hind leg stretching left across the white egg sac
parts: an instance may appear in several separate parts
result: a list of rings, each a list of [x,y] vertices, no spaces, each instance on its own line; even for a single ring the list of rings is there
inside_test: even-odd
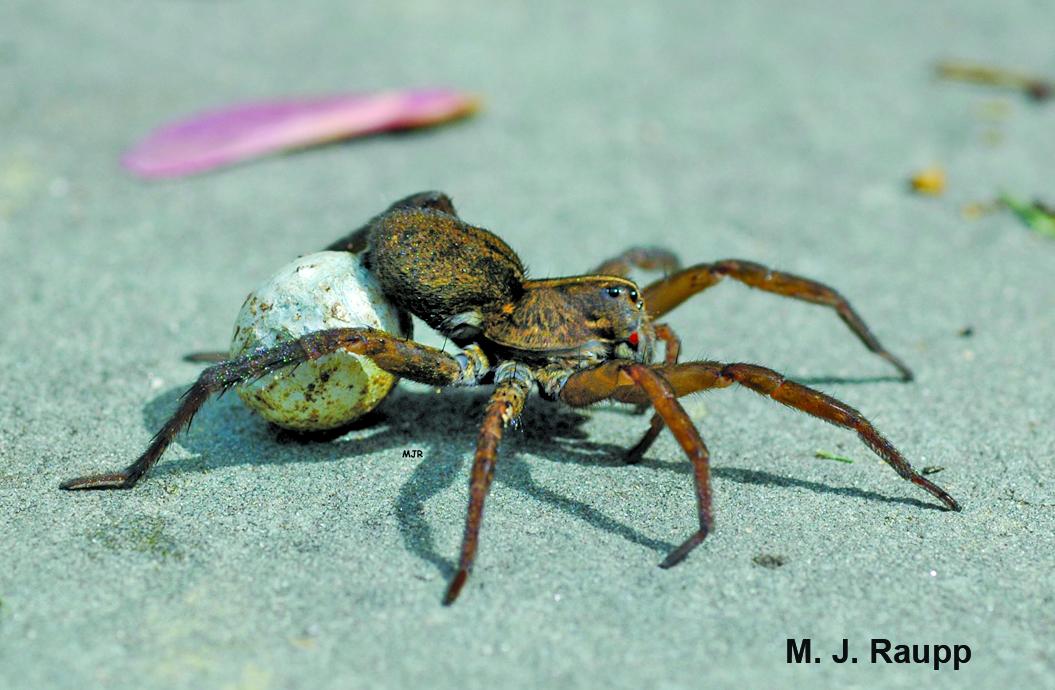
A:
[[[190,426],[194,415],[213,394],[223,394],[241,383],[342,349],[368,356],[378,366],[396,376],[437,386],[475,383],[487,367],[483,356],[477,351],[466,350],[457,357],[450,356],[369,328],[335,328],[308,333],[295,341],[261,348],[205,369],[135,462],[121,472],[71,479],[61,487],[132,488],[157,462],[176,435]]]

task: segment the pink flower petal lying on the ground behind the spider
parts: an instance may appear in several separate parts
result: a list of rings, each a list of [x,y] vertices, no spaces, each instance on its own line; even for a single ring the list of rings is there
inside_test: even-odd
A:
[[[275,151],[436,124],[478,107],[478,99],[443,89],[241,103],[166,124],[121,162],[140,177],[180,177]]]

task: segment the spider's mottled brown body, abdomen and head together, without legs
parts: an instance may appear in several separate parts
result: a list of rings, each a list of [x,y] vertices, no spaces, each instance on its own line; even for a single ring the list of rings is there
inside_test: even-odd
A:
[[[529,281],[504,242],[431,208],[380,216],[366,246],[385,294],[459,345],[571,368],[617,356],[649,361],[645,303],[625,277]]]

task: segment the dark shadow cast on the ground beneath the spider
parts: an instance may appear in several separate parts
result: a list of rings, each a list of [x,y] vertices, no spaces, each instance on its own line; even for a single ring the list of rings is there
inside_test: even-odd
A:
[[[143,408],[143,422],[154,433],[176,408],[184,386],[170,388],[150,401]],[[205,473],[237,465],[288,464],[291,462],[337,462],[358,454],[390,451],[400,453],[408,446],[424,449],[419,462],[400,487],[396,514],[404,547],[416,556],[437,568],[446,578],[456,572],[455,560],[441,555],[435,544],[433,528],[424,519],[425,504],[459,482],[466,461],[472,457],[476,426],[482,418],[488,390],[447,389],[443,395],[398,388],[373,414],[350,428],[333,434],[295,435],[271,427],[242,406],[236,395],[207,404],[195,417],[193,428],[178,437],[177,443],[194,454],[179,463],[161,462],[154,476],[171,476],[188,472]],[[546,503],[576,519],[584,520],[597,530],[621,537],[632,543],[666,555],[676,544],[649,537],[596,507],[569,498],[542,486],[532,476],[529,463],[516,455],[526,452],[556,462],[600,464],[624,472],[652,469],[674,472],[686,476],[691,484],[692,468],[688,462],[646,459],[636,465],[624,461],[626,448],[613,443],[592,441],[583,423],[587,414],[563,405],[532,400],[524,409],[520,433],[506,432],[502,444],[504,461],[498,463],[495,481],[532,499]],[[454,425],[452,420],[465,420]],[[642,417],[641,430],[647,426]],[[232,429],[233,427],[233,429]],[[345,438],[348,436],[354,438]],[[224,438],[217,446],[206,439]],[[234,442],[232,443],[231,440]],[[299,442],[296,453],[280,447]],[[265,448],[272,447],[272,452]],[[818,482],[793,479],[768,472],[737,467],[712,467],[713,476],[738,483],[763,486],[793,486],[821,494],[901,503],[914,507],[935,507],[912,498],[891,498],[875,492],[852,487],[835,487]],[[460,483],[460,482],[459,482]],[[935,509],[937,510],[937,509]],[[690,529],[687,525],[687,529]]]

